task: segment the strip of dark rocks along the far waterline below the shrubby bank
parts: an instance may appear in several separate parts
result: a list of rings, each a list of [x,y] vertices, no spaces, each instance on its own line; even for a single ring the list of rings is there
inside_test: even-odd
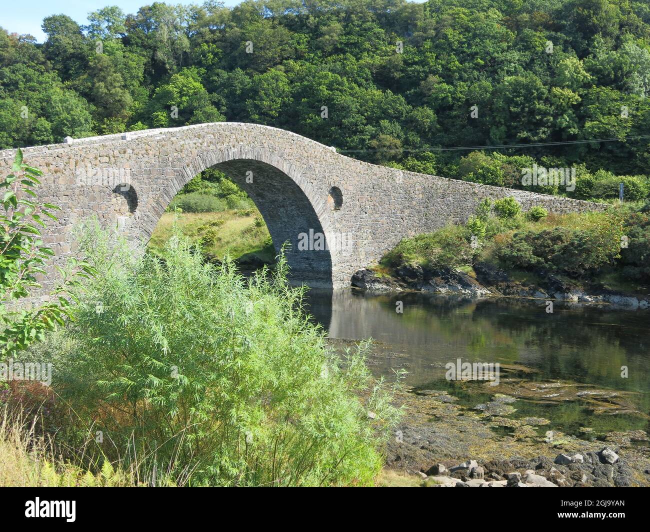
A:
[[[429,270],[421,266],[402,266],[393,275],[378,275],[372,270],[358,270],[352,286],[372,292],[419,291],[469,298],[515,297],[595,303],[620,309],[650,309],[650,296],[621,294],[604,287],[585,290],[547,272],[540,272],[544,286],[530,286],[510,278],[508,273],[486,264],[474,265],[476,277],[451,268]],[[587,293],[590,292],[590,293]]]

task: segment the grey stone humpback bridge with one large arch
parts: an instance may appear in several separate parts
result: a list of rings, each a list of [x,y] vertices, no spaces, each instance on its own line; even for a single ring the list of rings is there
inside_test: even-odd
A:
[[[15,150],[0,151],[3,175],[14,155]],[[64,144],[27,147],[23,155],[26,164],[44,171],[40,199],[62,207],[59,222],[44,232],[57,263],[75,253],[73,227],[88,216],[146,244],[175,194],[210,167],[252,197],[276,249],[291,242],[292,280],[311,286],[349,285],[356,270],[402,238],[464,222],[484,197],[514,196],[524,210],[595,207],[376,166],[289,131],[248,123],[68,138]],[[48,277],[44,288],[52,284]]]

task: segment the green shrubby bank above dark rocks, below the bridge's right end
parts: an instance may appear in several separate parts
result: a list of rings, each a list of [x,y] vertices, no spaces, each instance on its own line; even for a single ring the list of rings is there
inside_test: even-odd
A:
[[[554,277],[576,286],[647,294],[650,291],[650,207],[612,205],[606,212],[522,212],[511,197],[484,201],[460,225],[402,240],[374,270],[452,268],[500,270],[539,285]]]

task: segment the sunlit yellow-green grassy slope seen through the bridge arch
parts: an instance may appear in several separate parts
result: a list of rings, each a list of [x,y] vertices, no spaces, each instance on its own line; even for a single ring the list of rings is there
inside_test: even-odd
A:
[[[183,236],[201,247],[203,253],[221,259],[256,257],[273,262],[275,249],[266,224],[257,209],[229,209],[222,212],[166,212],[156,225],[149,249],[160,253],[174,233],[174,223]]]

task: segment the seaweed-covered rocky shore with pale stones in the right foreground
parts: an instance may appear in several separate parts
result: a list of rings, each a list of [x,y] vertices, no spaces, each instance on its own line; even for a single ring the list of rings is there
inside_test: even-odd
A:
[[[650,447],[643,431],[604,440],[539,435],[543,418],[513,420],[465,409],[446,392],[405,390],[405,415],[387,444],[387,468],[424,487],[650,486]],[[494,431],[515,427],[512,434]]]

